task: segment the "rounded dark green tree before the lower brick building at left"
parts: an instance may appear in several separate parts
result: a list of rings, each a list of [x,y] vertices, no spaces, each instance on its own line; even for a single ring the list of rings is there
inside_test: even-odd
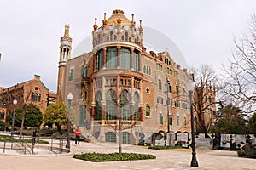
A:
[[[40,127],[43,122],[43,114],[35,105],[29,104],[25,106],[24,114],[24,127]],[[23,109],[17,109],[15,111],[15,126],[21,127]],[[10,116],[10,120],[13,119],[13,114]]]

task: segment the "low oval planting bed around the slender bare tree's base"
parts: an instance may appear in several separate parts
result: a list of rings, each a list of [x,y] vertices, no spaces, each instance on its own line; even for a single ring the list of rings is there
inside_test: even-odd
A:
[[[137,153],[81,153],[73,155],[73,158],[84,161],[102,162],[102,161],[134,161],[134,160],[146,160],[155,159],[156,157],[149,154],[137,154]]]

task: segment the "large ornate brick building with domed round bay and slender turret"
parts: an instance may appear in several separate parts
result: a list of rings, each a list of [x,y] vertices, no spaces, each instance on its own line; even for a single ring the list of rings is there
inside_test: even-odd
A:
[[[133,14],[129,20],[122,10],[113,10],[108,20],[104,14],[102,26],[95,20],[92,38],[91,52],[70,58],[69,26],[61,37],[58,99],[67,102],[67,94],[73,94],[73,124],[96,139],[117,142],[120,116],[125,144],[151,140],[153,133],[168,130],[190,133],[191,75],[168,48],[147,52],[141,20],[137,28]]]

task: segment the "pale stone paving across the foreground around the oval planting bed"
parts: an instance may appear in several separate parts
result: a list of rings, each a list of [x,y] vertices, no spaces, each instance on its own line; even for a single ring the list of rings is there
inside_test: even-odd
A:
[[[118,152],[118,144],[84,143],[71,144],[71,153],[61,155],[13,155],[0,153],[0,169],[3,170],[66,170],[66,169],[245,169],[256,170],[256,159],[238,157],[236,151],[196,150],[199,167],[189,167],[191,150],[148,150],[147,147],[123,144],[123,152],[153,154],[154,160],[90,162],[73,159],[80,152]]]

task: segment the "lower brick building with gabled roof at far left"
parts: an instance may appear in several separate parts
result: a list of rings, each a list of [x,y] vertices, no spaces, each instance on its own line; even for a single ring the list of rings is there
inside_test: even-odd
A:
[[[10,124],[9,116],[14,111],[14,99],[17,100],[16,109],[22,108],[25,104],[37,106],[44,114],[47,105],[56,101],[57,94],[49,92],[40,76],[34,75],[34,79],[17,83],[9,88],[0,88],[0,114],[1,119],[7,125]]]

